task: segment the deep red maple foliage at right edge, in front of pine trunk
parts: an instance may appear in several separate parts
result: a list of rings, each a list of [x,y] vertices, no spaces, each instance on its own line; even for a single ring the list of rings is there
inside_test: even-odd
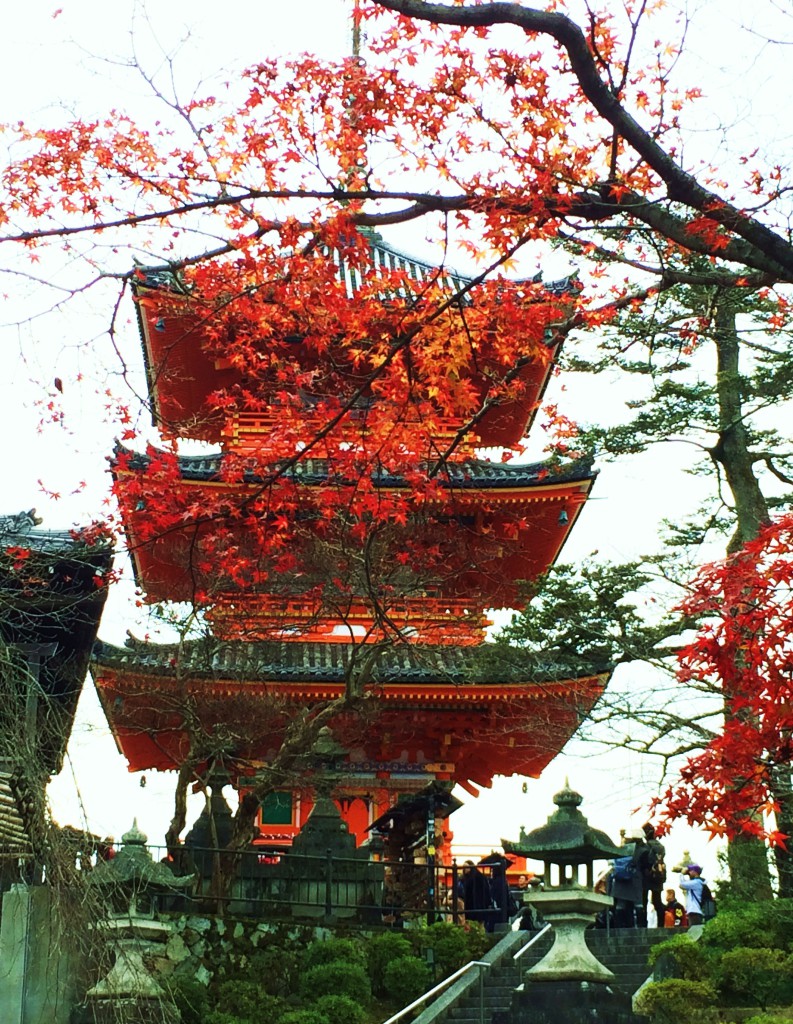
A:
[[[789,838],[776,824],[774,772],[793,759],[792,531],[793,517],[783,516],[694,581],[683,610],[707,621],[681,652],[678,675],[720,686],[724,725],[665,794],[669,820],[715,836]]]

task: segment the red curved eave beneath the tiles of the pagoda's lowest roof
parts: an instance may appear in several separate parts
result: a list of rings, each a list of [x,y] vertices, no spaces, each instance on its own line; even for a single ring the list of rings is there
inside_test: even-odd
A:
[[[269,646],[270,653],[277,646]],[[281,645],[289,646],[300,653],[300,645]],[[226,654],[246,654],[250,653],[247,647],[257,645],[224,647]],[[302,645],[304,656],[297,660],[322,653],[322,664],[315,671],[303,666],[301,674],[293,658],[292,664],[250,666],[248,673],[234,675],[212,672],[210,667],[202,672],[182,664],[177,679],[175,658],[170,656],[173,648],[168,645],[133,643],[130,648],[116,648],[99,644],[92,675],[116,742],[131,770],[174,768],[186,756],[189,740],[178,711],[179,695],[185,694],[204,709],[209,730],[222,717],[222,709],[227,709],[229,719],[243,729],[240,753],[248,763],[251,758],[269,757],[266,752],[278,749],[296,707],[323,706],[344,692],[338,671],[344,657],[327,646],[320,652],[321,647]],[[350,652],[351,647],[342,655]],[[477,660],[468,654],[461,657],[453,648],[446,653],[455,669]],[[419,681],[410,678],[411,664],[414,671],[416,664],[406,651],[389,668],[394,678],[367,688],[371,702],[364,718],[341,710],[334,730],[346,736],[351,746],[360,745],[367,759],[399,760],[401,752],[410,749],[409,760],[421,751],[429,763],[451,762],[453,769],[444,771],[451,771],[448,777],[463,784],[487,786],[496,774],[537,775],[589,714],[608,683],[609,672],[566,678],[561,670],[553,673],[548,667],[530,666],[523,655],[526,678],[506,678],[510,666],[513,672],[519,667],[516,655],[519,652],[508,649],[500,680],[493,678],[495,668],[485,665],[481,669],[487,668],[488,682],[454,682],[440,678],[443,672],[431,667],[423,671],[436,678]],[[147,665],[140,664],[147,659]],[[250,665],[255,658],[243,656],[242,660]],[[488,659],[479,656],[479,660]],[[317,671],[328,671],[329,666],[336,666],[334,678],[318,679]],[[404,679],[396,678],[401,666]],[[250,737],[243,721],[255,722]]]

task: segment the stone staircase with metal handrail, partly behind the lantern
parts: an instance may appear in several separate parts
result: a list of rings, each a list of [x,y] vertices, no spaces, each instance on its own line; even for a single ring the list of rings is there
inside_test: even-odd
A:
[[[516,941],[513,936],[520,936],[523,941]],[[616,975],[614,986],[632,995],[650,976],[648,953],[652,946],[669,938],[669,932],[658,929],[612,929],[608,935],[606,930],[590,929],[587,932],[587,945],[601,964]],[[551,943],[550,933],[542,935],[519,959],[512,956],[529,941],[527,932],[512,933],[499,946],[504,945],[501,955],[494,957],[493,964],[485,972],[484,983],[484,1021],[485,1024],[511,1024],[512,992],[524,980],[524,975],[534,964],[537,964],[548,951]],[[493,952],[499,951],[499,946]],[[445,1005],[428,1008],[416,1021],[416,1024],[481,1024],[478,981],[469,984],[467,991],[461,992],[454,999],[439,999]]]

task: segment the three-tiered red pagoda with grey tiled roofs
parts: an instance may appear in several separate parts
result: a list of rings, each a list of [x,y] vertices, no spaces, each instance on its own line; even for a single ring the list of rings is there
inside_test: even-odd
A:
[[[466,279],[374,234],[315,256],[325,275],[317,291],[334,301],[369,313],[379,304],[390,324],[395,304],[412,310],[431,291],[450,337],[469,344],[476,299]],[[365,699],[335,715],[326,741],[306,752],[302,776],[266,798],[259,833],[261,842],[290,844],[330,786],[361,843],[399,801],[455,783],[476,794],[496,774],[539,775],[606,685],[606,669],[582,677],[486,642],[488,609],[531,597],[594,480],[581,463],[478,457],[526,436],[553,368],[553,325],[575,287],[526,284],[523,315],[540,339],[527,344],[531,357],[505,366],[497,330],[482,329],[454,365],[452,399],[436,397],[433,370],[422,377],[409,367],[411,400],[398,412],[384,388],[360,384],[374,354],[362,349],[351,365],[341,347],[312,344],[310,321],[286,317],[280,294],[274,288],[266,299],[272,324],[283,326],[268,322],[266,369],[254,388],[251,347],[247,361],[236,347],[243,324],[218,321],[170,272],[138,274],[155,422],[166,441],[203,443],[190,454],[119,446],[116,490],[145,600],[191,602],[206,632],[172,644],[97,644],[92,673],[131,771],[174,769],[191,756],[201,764],[198,721],[206,772],[222,749],[222,769],[241,792],[266,773],[296,716],[354,688]],[[299,372],[284,383],[286,365]],[[391,417],[403,440],[390,456],[383,443],[374,459],[368,439],[378,429],[385,436],[378,417]],[[316,443],[329,422],[335,447]],[[158,499],[167,488],[152,479],[171,480],[170,497]],[[274,488],[275,514],[266,510]],[[367,532],[371,516],[349,511],[361,492],[367,508],[377,507],[376,531]],[[154,528],[168,512],[171,525]],[[287,519],[291,547],[274,549]],[[452,802],[430,804],[440,808],[432,829],[443,856]]]

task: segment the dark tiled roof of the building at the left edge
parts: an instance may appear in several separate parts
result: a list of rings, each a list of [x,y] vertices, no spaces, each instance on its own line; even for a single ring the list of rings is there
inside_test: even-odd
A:
[[[20,673],[38,672],[37,753],[55,773],[105,606],[101,578],[113,553],[106,540],[38,524],[35,509],[0,516],[0,641],[18,653]]]

